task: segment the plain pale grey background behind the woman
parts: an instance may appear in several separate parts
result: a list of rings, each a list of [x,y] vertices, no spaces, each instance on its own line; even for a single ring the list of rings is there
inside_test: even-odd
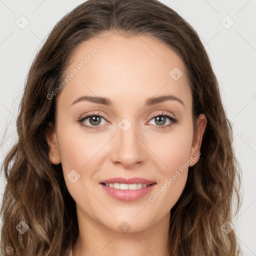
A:
[[[55,23],[82,2],[0,0],[0,163],[17,139],[18,104],[32,59]],[[256,255],[256,0],[161,2],[193,26],[210,57],[242,168],[243,202],[232,223],[244,255]],[[0,200],[4,184],[1,176]]]

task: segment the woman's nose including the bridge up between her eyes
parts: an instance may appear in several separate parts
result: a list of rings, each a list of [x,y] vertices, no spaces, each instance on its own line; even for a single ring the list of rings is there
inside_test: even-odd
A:
[[[139,139],[141,134],[136,126],[135,118],[123,118],[117,124],[117,134],[114,139],[112,161],[131,166],[145,160],[145,146]]]

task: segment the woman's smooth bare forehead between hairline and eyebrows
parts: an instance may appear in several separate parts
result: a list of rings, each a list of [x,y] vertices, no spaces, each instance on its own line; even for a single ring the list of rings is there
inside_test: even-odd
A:
[[[83,41],[73,51],[64,77],[72,72],[75,75],[59,93],[68,102],[83,94],[119,103],[131,102],[134,95],[143,101],[153,95],[173,94],[191,104],[182,59],[151,36],[104,33]]]

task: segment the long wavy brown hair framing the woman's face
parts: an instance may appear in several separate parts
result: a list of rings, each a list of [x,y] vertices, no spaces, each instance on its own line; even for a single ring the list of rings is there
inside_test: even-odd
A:
[[[75,202],[61,164],[48,159],[46,130],[55,120],[56,99],[47,95],[60,84],[76,46],[105,31],[153,36],[173,49],[189,78],[193,121],[200,113],[207,118],[200,159],[189,167],[184,190],[170,210],[168,253],[238,254],[235,229],[226,233],[221,228],[240,207],[241,177],[218,82],[197,33],[157,0],[88,0],[54,26],[38,51],[16,121],[18,140],[2,165],[7,181],[1,207],[3,254],[65,256],[77,239]],[[16,229],[20,221],[29,226],[23,234]]]

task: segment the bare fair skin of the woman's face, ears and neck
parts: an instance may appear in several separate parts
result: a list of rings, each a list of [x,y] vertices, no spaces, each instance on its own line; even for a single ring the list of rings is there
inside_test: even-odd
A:
[[[180,172],[154,202],[148,197],[200,150],[207,121],[199,115],[193,133],[191,90],[184,64],[173,50],[154,37],[110,35],[82,42],[73,52],[66,75],[94,48],[99,50],[57,95],[55,127],[49,124],[47,133],[49,159],[53,164],[61,162],[76,202],[79,237],[73,256],[163,256],[170,209],[183,191],[189,169]],[[175,66],[183,73],[178,80],[169,75]],[[145,106],[147,98],[167,94],[184,105],[167,100]],[[84,95],[107,97],[113,105],[89,101],[71,105]],[[86,129],[77,122],[93,111],[104,116],[99,129]],[[159,124],[152,115],[162,112],[178,122],[167,127],[171,120],[166,118]],[[118,127],[123,118],[131,124],[127,131]],[[93,127],[95,121],[87,118],[83,123]],[[80,175],[74,183],[67,178],[72,169]],[[100,180],[116,176],[144,177],[157,184],[150,194],[125,202],[110,197],[99,185]],[[130,226],[127,233],[118,228],[123,221]]]

